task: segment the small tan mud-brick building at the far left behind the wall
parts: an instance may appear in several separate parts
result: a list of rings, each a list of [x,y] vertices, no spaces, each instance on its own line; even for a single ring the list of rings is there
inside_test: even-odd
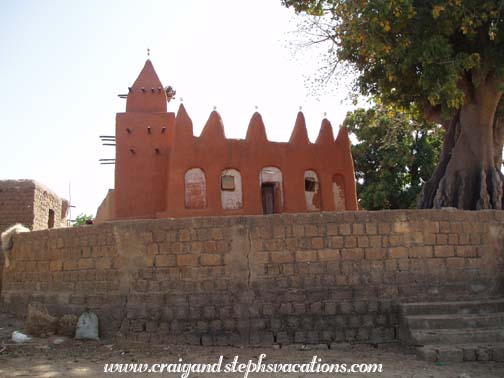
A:
[[[68,201],[35,180],[0,180],[0,232],[15,223],[30,230],[67,227]]]

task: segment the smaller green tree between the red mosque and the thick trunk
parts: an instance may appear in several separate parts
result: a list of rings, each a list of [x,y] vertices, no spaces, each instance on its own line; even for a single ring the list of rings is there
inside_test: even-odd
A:
[[[435,170],[444,130],[418,112],[376,105],[349,112],[359,204],[367,210],[415,208]]]

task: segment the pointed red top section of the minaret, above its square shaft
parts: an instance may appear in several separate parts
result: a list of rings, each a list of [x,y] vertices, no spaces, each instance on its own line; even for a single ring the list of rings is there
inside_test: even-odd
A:
[[[166,93],[149,59],[133,86],[128,88],[126,111],[166,112]]]

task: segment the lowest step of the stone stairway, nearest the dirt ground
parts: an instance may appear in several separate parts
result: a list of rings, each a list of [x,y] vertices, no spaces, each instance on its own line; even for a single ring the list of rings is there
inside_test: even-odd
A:
[[[426,345],[418,347],[417,358],[431,362],[504,362],[504,343]]]

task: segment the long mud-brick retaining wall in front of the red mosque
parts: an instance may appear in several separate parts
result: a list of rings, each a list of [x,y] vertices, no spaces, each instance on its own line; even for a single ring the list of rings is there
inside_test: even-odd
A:
[[[4,308],[90,308],[103,336],[204,345],[393,340],[400,301],[502,296],[504,213],[108,222],[15,237]]]

